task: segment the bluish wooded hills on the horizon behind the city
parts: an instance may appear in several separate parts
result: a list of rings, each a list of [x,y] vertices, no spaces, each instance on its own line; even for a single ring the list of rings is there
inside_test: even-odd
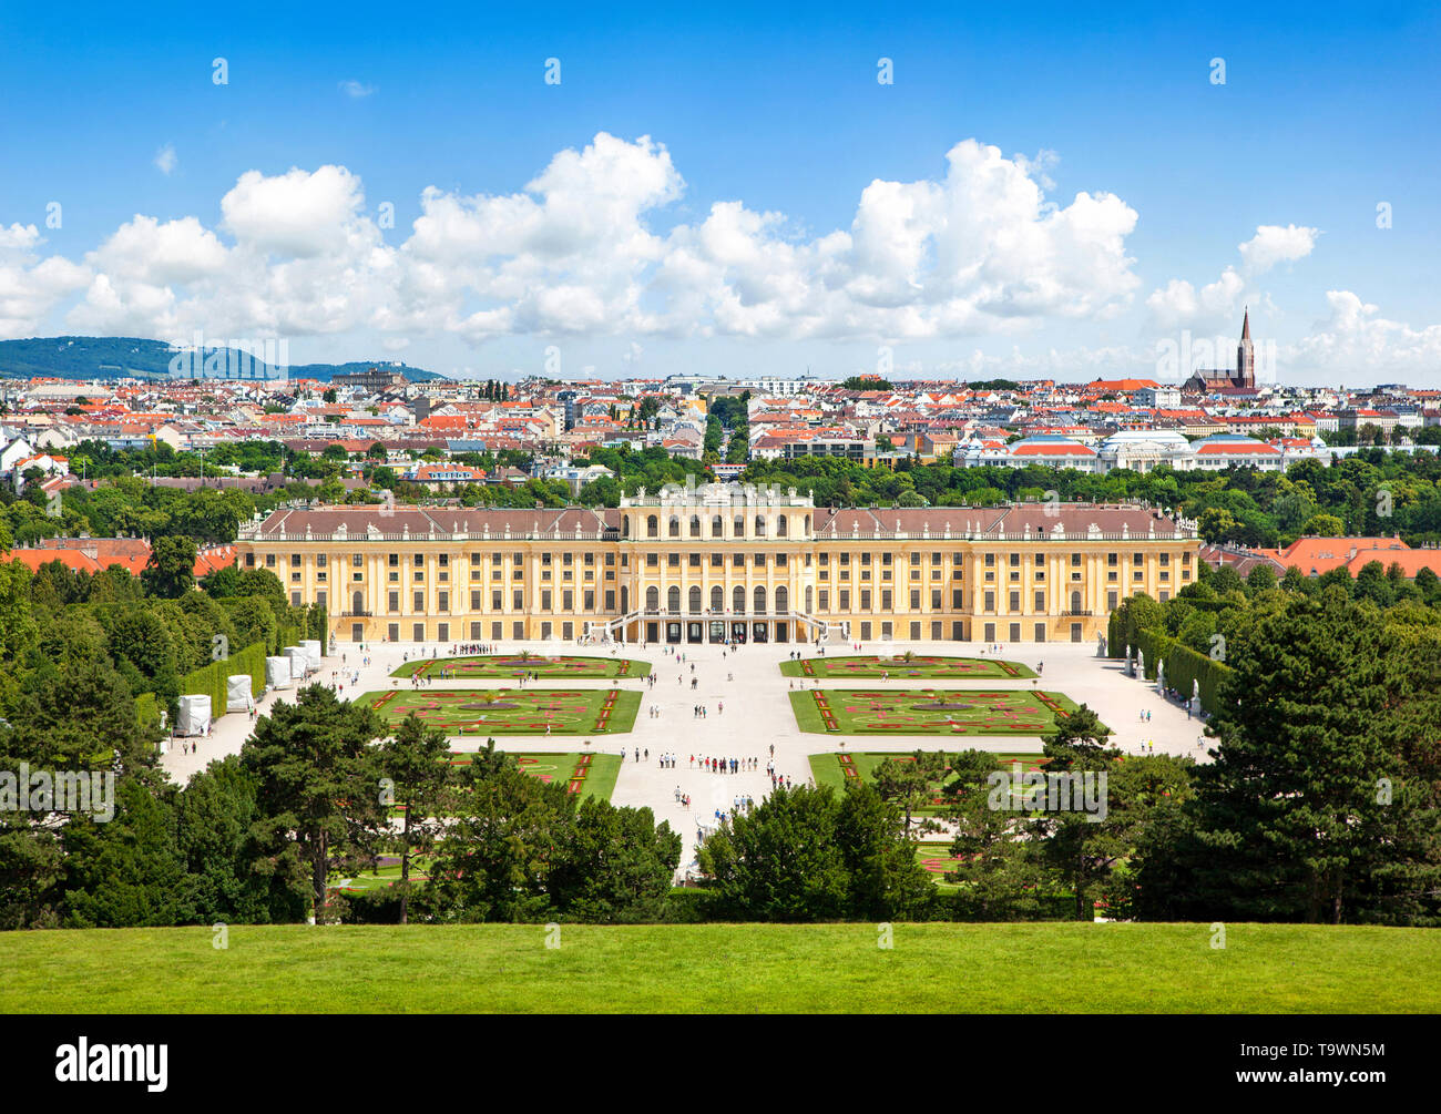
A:
[[[254,370],[248,378],[275,379],[278,375],[267,365],[239,359],[233,349],[206,350],[206,360],[228,363],[232,367],[248,366]],[[171,362],[176,350],[163,340],[141,340],[138,337],[33,337],[30,340],[0,340],[0,379],[30,379],[52,376],[58,379],[171,379]],[[182,363],[184,369],[189,365]],[[392,360],[359,360],[350,363],[293,363],[288,367],[291,379],[320,379],[367,372],[372,367],[396,370],[412,382],[444,379],[435,372],[408,367]],[[193,378],[183,375],[180,378]],[[225,378],[212,376],[212,378]],[[233,376],[232,376],[233,378]]]

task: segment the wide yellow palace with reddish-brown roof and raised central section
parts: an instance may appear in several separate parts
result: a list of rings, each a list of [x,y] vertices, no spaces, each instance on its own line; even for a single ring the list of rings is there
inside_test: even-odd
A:
[[[794,489],[641,489],[615,509],[280,509],[241,568],[336,641],[1088,641],[1196,578],[1193,523],[1141,506],[817,507]]]

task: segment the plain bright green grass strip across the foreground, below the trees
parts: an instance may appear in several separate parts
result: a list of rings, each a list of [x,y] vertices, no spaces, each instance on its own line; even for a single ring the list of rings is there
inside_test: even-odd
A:
[[[0,1012],[1435,1013],[1425,928],[256,927],[0,934]],[[553,937],[552,937],[553,940]]]

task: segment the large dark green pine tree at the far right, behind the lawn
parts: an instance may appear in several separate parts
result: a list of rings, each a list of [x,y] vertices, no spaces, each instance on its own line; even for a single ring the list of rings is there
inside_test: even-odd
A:
[[[1378,901],[1434,915],[1435,791],[1421,759],[1441,706],[1396,640],[1333,585],[1232,647],[1216,761],[1197,777],[1195,885],[1215,915],[1340,924],[1349,902]]]

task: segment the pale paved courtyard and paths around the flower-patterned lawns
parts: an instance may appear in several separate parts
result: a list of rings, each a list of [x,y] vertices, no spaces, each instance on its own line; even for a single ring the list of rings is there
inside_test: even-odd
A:
[[[530,650],[533,653],[566,653],[610,657],[612,647],[576,647],[574,643],[562,646],[555,643],[503,643],[506,653]],[[635,719],[635,729],[627,735],[610,738],[591,738],[591,747],[585,747],[584,735],[552,736],[548,747],[540,747],[536,736],[499,736],[496,747],[509,751],[581,751],[617,754],[624,747],[625,762],[621,767],[615,783],[615,793],[611,800],[615,804],[647,806],[657,820],[667,820],[673,829],[684,839],[682,853],[682,872],[693,863],[699,830],[715,824],[715,811],[732,807],[738,796],[749,796],[759,801],[771,788],[771,780],[765,772],[765,762],[769,758],[769,747],[775,747],[775,768],[778,774],[788,775],[795,784],[810,780],[810,764],[807,757],[824,751],[840,751],[849,742],[849,749],[856,751],[927,751],[978,748],[1000,754],[1026,754],[1040,749],[1040,742],[1029,736],[999,736],[951,739],[935,735],[859,735],[849,741],[836,735],[804,734],[795,723],[791,712],[790,693],[806,686],[816,687],[813,680],[781,676],[780,663],[785,661],[793,651],[803,656],[817,653],[810,644],[768,644],[742,646],[729,651],[720,646],[680,646],[684,661],[679,661],[667,649],[650,646],[641,650],[638,646],[614,647],[617,656],[650,661],[654,674],[654,686],[648,686],[644,679],[624,679],[618,685],[623,689],[641,693],[640,713]],[[948,654],[958,657],[986,657],[983,646],[978,643],[899,643],[895,651],[915,650],[916,653]],[[416,654],[431,657],[435,651],[441,656],[450,654],[450,644],[445,646],[416,646],[414,643],[395,643],[372,646],[367,651],[357,650],[350,643],[340,643],[334,657],[324,659],[324,669],[317,674],[323,683],[343,683],[344,696],[359,696],[376,690],[409,690],[409,680],[391,677],[391,672],[402,663],[402,656],[414,659]],[[886,649],[876,643],[865,643],[862,653],[885,653]],[[846,644],[827,646],[827,656],[846,656],[850,653]],[[342,661],[344,654],[344,661]],[[370,657],[370,666],[362,666],[363,657]],[[1098,659],[1094,644],[1049,643],[1036,646],[1006,646],[1001,659],[1020,661],[1036,669],[1043,663],[1039,680],[997,680],[987,677],[977,680],[914,680],[880,682],[867,679],[847,685],[837,680],[821,680],[821,687],[827,689],[1032,689],[1043,687],[1052,692],[1062,692],[1076,703],[1089,705],[1107,726],[1115,734],[1115,744],[1130,754],[1140,754],[1141,748],[1150,742],[1157,754],[1190,755],[1205,761],[1205,751],[1196,744],[1202,735],[1202,725],[1186,716],[1182,706],[1163,699],[1154,683],[1127,677],[1120,661]],[[692,672],[692,666],[695,670]],[[359,672],[359,682],[354,673]],[[334,676],[333,676],[334,673]],[[342,676],[343,674],[343,676]],[[690,687],[696,679],[695,689]],[[536,687],[553,687],[562,682],[537,682]],[[565,680],[565,687],[571,689],[605,689],[610,680]],[[794,686],[794,687],[793,687]],[[435,680],[428,686],[438,689],[474,689],[474,679]],[[267,693],[259,702],[261,713],[271,709],[277,699],[294,699],[294,690]],[[705,705],[709,715],[705,719],[695,716],[695,706]],[[720,708],[725,708],[722,712]],[[659,709],[659,716],[651,718],[651,709]],[[1141,712],[1150,712],[1151,722],[1141,722]],[[235,754],[251,732],[251,722],[244,715],[226,715],[219,718],[209,738],[195,739],[195,752],[182,754],[180,741],[174,741],[170,752],[164,757],[163,765],[177,781],[186,781],[195,771],[203,768],[215,758]],[[192,741],[186,741],[192,742]],[[451,741],[454,749],[474,749],[474,736],[457,738]],[[634,758],[635,751],[641,752],[641,761]],[[648,751],[648,758],[646,752]],[[674,770],[663,770],[659,758],[663,752],[673,752],[679,761]],[[690,758],[759,758],[758,768],[741,774],[709,774],[690,765]],[[676,790],[692,798],[692,807],[683,808],[676,801]]]

